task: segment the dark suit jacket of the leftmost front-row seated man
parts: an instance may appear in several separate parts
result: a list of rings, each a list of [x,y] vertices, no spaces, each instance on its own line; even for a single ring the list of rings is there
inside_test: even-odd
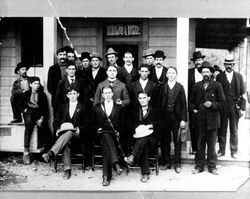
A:
[[[67,122],[68,114],[69,103],[61,105],[61,108],[58,110],[55,118],[55,131],[60,128],[62,123]],[[80,102],[78,102],[76,110],[73,114],[72,124],[74,128],[79,127],[80,137],[83,137],[83,134],[86,134],[86,129],[89,125],[89,116],[86,112],[85,107]]]

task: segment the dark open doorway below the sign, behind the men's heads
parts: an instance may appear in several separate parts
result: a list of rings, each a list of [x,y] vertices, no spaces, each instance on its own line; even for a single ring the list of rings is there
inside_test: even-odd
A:
[[[123,56],[124,53],[127,51],[130,51],[134,57],[134,62],[133,65],[134,67],[138,67],[139,65],[139,47],[138,45],[127,45],[127,44],[108,44],[106,45],[106,49],[105,52],[107,52],[108,48],[113,48],[116,52],[118,52],[118,60],[117,60],[117,64],[119,66],[123,66],[124,65],[124,61],[123,61]]]

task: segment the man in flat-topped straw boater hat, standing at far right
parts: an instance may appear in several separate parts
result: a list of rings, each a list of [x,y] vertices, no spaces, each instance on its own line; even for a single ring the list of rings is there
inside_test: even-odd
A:
[[[225,71],[220,73],[216,80],[221,83],[226,97],[226,104],[221,111],[221,128],[218,134],[219,151],[218,156],[225,155],[227,126],[230,127],[230,151],[232,158],[237,158],[238,152],[238,123],[246,108],[246,100],[243,98],[245,93],[242,75],[234,71],[235,61],[229,55],[225,61]]]

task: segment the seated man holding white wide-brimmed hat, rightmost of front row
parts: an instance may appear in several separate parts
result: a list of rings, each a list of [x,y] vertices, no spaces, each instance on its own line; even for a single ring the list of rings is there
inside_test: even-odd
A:
[[[130,165],[134,160],[138,162],[142,173],[141,182],[147,182],[150,174],[149,151],[155,151],[159,143],[159,112],[149,105],[150,97],[146,92],[140,92],[138,100],[140,107],[134,118],[136,141],[131,155],[124,160]]]

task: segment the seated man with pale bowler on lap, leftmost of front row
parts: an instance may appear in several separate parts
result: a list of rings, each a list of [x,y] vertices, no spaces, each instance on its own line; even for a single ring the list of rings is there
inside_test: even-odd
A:
[[[42,155],[44,161],[49,162],[51,158],[62,151],[64,179],[71,177],[69,142],[80,140],[80,136],[82,137],[83,133],[85,133],[85,127],[88,121],[85,107],[78,102],[78,97],[79,91],[74,85],[67,89],[69,103],[59,109],[55,120],[56,135],[59,136],[59,138],[48,153]],[[61,128],[59,129],[60,126]],[[73,128],[70,128],[70,126]]]

